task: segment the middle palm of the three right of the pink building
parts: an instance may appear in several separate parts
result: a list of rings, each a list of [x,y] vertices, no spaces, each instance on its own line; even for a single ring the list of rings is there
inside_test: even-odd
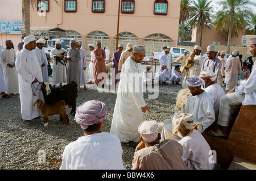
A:
[[[210,24],[212,24],[212,16],[209,12],[213,6],[210,3],[212,3],[211,0],[193,1],[191,19],[198,29],[197,44],[199,46],[202,44],[203,29],[210,28]]]

